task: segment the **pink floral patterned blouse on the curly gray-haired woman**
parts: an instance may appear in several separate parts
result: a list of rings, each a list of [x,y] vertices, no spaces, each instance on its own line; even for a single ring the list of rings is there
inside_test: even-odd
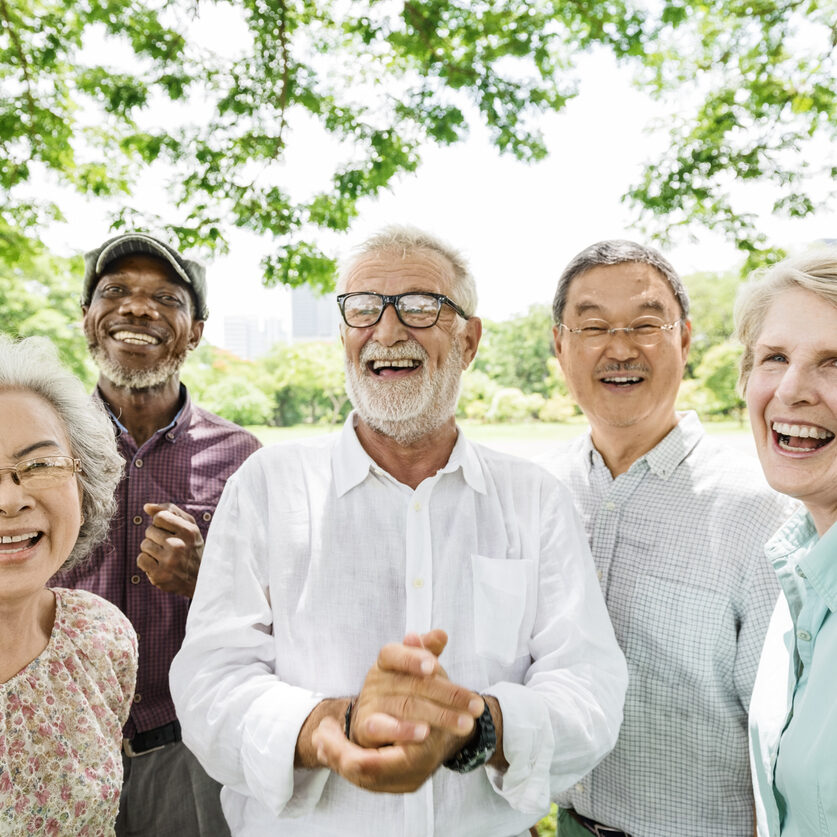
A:
[[[137,639],[104,599],[53,593],[47,647],[0,683],[0,834],[112,835]]]

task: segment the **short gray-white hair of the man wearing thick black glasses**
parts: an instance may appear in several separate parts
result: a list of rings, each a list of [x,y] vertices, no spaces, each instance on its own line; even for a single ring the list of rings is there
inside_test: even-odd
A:
[[[473,317],[477,310],[477,285],[465,257],[447,242],[417,227],[391,224],[358,245],[340,267],[337,292],[342,293],[345,290],[349,274],[358,262],[368,256],[398,253],[404,258],[416,250],[429,250],[448,261],[453,268],[450,297],[469,317]]]

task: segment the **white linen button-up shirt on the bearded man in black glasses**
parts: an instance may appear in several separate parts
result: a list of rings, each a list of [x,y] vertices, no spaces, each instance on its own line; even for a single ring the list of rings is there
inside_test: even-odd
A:
[[[452,681],[494,695],[505,773],[411,794],[294,769],[324,698],[378,651],[443,628]],[[581,524],[534,464],[467,442],[415,491],[354,432],[251,456],[229,480],[171,670],[183,738],[237,837],[510,837],[613,746],[627,684]]]

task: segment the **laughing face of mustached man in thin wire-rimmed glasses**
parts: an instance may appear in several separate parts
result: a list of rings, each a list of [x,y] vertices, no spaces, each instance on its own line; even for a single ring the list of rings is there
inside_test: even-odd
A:
[[[681,317],[680,306],[663,276],[638,262],[599,265],[576,276],[563,312],[567,328],[591,319],[620,328],[649,316],[672,323]],[[555,351],[567,385],[600,451],[630,440],[633,454],[640,456],[675,426],[689,335],[688,324],[681,324],[663,332],[656,345],[639,347],[621,332],[591,349],[579,335],[555,327]]]

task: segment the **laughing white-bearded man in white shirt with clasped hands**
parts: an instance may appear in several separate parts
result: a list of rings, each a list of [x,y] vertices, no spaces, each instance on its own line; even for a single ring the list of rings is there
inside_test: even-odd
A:
[[[339,289],[355,412],[229,480],[171,672],[183,739],[240,837],[514,837],[622,719],[586,537],[553,477],[456,427],[461,256],[389,228]]]

